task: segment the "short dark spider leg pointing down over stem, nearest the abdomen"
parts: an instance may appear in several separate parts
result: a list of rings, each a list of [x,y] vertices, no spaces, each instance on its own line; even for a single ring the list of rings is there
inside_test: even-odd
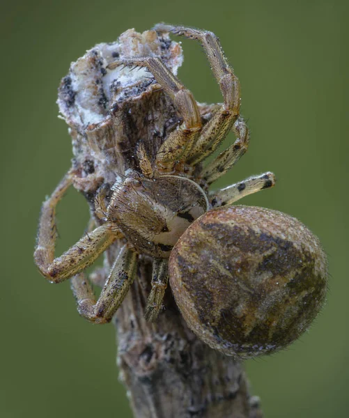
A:
[[[168,282],[168,260],[154,260],[151,291],[146,302],[146,320],[154,322],[159,315]]]

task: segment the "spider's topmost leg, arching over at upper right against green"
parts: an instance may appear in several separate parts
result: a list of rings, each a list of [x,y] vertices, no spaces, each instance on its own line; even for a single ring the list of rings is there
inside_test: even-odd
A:
[[[189,39],[199,40],[205,54],[208,57],[213,75],[219,84],[219,88],[224,98],[224,104],[206,123],[201,132],[200,138],[187,155],[188,164],[199,164],[212,154],[221,144],[229,130],[234,128],[234,122],[239,119],[239,125],[245,125],[245,121],[239,118],[240,114],[240,82],[233,72],[233,68],[228,64],[224,52],[215,33],[202,31],[199,29],[187,28],[184,26],[171,26],[166,24],[157,24],[154,27],[157,32],[171,32],[175,35],[183,35]],[[247,133],[248,136],[248,133]],[[238,136],[238,141],[244,141]]]

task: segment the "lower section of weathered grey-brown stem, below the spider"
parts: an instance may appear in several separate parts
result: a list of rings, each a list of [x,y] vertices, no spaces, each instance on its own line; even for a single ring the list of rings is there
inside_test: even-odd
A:
[[[262,417],[258,398],[249,395],[242,365],[188,330],[170,292],[157,322],[146,322],[150,272],[145,259],[138,281],[114,318],[118,366],[134,417]]]

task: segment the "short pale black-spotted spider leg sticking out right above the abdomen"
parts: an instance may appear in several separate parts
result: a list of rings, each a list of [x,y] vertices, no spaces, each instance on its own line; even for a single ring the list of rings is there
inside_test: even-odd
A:
[[[224,189],[212,192],[213,199],[211,199],[212,208],[219,208],[221,206],[230,206],[234,202],[240,200],[242,197],[249,194],[259,192],[263,189],[269,189],[275,185],[275,176],[268,171],[260,176],[252,176],[235,183]]]

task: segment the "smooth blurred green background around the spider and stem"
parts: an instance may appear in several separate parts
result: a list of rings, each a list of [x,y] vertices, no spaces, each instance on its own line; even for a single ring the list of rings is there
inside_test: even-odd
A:
[[[242,84],[249,153],[219,185],[274,171],[243,203],[288,212],[329,254],[327,305],[288,350],[246,362],[265,417],[348,417],[348,1],[2,1],[0,417],[131,417],[112,325],[86,323],[69,284],[33,265],[40,205],[70,167],[56,89],[70,61],[129,28],[161,21],[215,31]],[[205,56],[183,40],[180,78],[221,100]],[[232,137],[230,137],[230,140]],[[58,251],[84,231],[73,190],[59,207]]]

